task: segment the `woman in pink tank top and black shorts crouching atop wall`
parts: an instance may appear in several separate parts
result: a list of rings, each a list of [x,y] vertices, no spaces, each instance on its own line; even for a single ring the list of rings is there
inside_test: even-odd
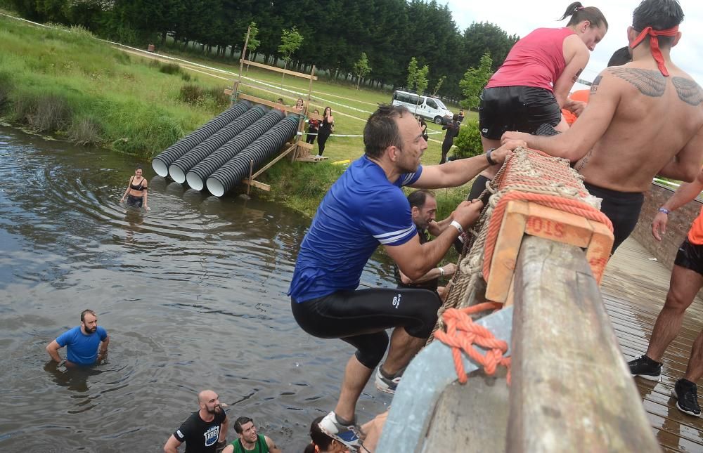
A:
[[[505,131],[535,133],[542,124],[565,130],[561,107],[605,36],[608,22],[598,8],[574,1],[560,20],[563,28],[538,28],[512,46],[481,94],[479,129],[484,151],[501,145]],[[489,166],[474,185],[484,188],[498,166]],[[472,192],[482,192],[472,190]],[[470,195],[471,197],[471,195]]]

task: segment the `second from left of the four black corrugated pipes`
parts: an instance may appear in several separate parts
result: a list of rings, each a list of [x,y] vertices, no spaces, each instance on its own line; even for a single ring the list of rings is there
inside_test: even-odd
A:
[[[186,171],[192,169],[202,159],[205,159],[205,157],[211,155],[217,148],[227,143],[228,140],[231,140],[231,138],[238,133],[254,124],[257,119],[261,119],[265,113],[266,110],[260,105],[249,109],[233,122],[227,124],[222,129],[212,134],[212,136],[206,138],[202,143],[195,145],[192,150],[176,159],[176,162],[169,166],[169,176],[171,176],[176,183],[186,182]]]

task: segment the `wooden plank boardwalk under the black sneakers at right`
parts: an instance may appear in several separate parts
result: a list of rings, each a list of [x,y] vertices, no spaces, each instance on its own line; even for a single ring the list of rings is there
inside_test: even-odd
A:
[[[627,239],[608,263],[602,280],[603,301],[626,360],[647,350],[669,289],[671,271],[650,258],[652,254],[641,244]],[[647,418],[665,452],[703,452],[703,419],[683,414],[669,398],[674,383],[683,377],[691,344],[701,329],[703,300],[698,297],[688,308],[678,337],[666,350],[662,381],[636,378]],[[697,382],[699,388],[702,383],[703,379]],[[703,392],[699,398],[703,402]]]

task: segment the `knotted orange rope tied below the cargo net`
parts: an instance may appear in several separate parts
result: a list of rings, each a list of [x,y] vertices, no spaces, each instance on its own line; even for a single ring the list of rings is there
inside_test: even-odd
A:
[[[467,308],[449,308],[444,313],[446,332],[437,330],[434,336],[451,347],[459,383],[466,383],[468,380],[461,356],[463,351],[471,360],[483,367],[489,376],[496,373],[498,365],[508,368],[508,384],[510,384],[510,357],[503,357],[508,352],[508,343],[496,339],[489,329],[476,324],[470,316],[485,310],[496,310],[502,306],[503,304],[495,302],[479,303]],[[487,349],[486,353],[483,354],[474,348],[474,345]]]

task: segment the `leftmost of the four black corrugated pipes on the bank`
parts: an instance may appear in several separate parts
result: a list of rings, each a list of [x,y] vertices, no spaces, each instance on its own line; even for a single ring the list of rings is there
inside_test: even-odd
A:
[[[205,138],[212,136],[213,133],[233,122],[236,117],[249,110],[249,107],[251,107],[251,104],[247,101],[236,103],[232,107],[229,107],[227,110],[217,115],[217,117],[209,120],[209,122],[167,147],[160,155],[154,157],[151,162],[152,168],[157,175],[167,176],[169,174],[169,165],[173,164],[176,159],[192,150],[195,145],[198,145],[198,143],[205,140]]]

